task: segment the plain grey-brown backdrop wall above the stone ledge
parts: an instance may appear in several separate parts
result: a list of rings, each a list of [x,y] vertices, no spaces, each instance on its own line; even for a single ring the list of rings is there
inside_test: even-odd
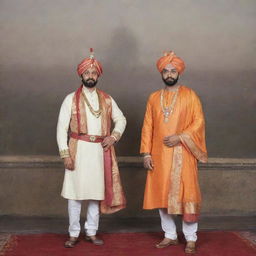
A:
[[[174,50],[203,103],[209,156],[255,157],[255,27],[254,0],[1,0],[0,154],[58,154],[59,108],[93,47],[98,86],[128,121],[118,155],[139,154],[146,100],[163,87],[155,63]]]

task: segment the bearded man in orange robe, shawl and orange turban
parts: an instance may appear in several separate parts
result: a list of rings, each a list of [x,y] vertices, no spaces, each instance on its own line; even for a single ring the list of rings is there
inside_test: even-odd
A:
[[[205,121],[196,93],[179,85],[184,61],[167,52],[157,62],[165,88],[147,102],[140,153],[148,169],[144,209],[159,209],[165,238],[156,245],[177,244],[173,214],[183,216],[185,251],[195,252],[201,195],[197,161],[207,161]]]

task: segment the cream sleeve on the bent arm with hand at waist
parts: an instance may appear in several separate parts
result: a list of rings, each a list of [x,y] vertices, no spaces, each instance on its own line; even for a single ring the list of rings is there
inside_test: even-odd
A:
[[[126,127],[126,118],[124,117],[122,111],[117,106],[113,98],[111,98],[111,102],[112,102],[112,120],[114,123],[114,129],[111,135],[114,136],[117,140],[119,140]]]

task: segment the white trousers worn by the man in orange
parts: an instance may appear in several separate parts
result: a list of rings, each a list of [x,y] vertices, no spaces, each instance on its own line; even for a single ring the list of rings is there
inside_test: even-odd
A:
[[[177,239],[176,225],[171,214],[167,213],[166,209],[159,209],[161,218],[162,229],[165,232],[165,237],[172,240]],[[185,222],[182,221],[182,231],[187,241],[196,241],[198,223],[197,222]]]

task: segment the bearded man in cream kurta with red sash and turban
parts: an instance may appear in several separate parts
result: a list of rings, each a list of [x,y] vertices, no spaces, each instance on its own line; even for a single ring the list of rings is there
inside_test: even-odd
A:
[[[125,204],[125,199],[121,203],[114,202],[117,200],[113,199],[115,195],[113,196],[112,187],[106,188],[105,153],[111,150],[112,155],[107,159],[111,162],[110,172],[115,167],[115,174],[112,171],[109,177],[111,184],[118,183],[121,197],[124,198],[120,178],[117,181],[113,178],[117,175],[119,177],[119,173],[117,164],[114,163],[116,160],[112,145],[124,132],[126,119],[114,99],[95,88],[98,77],[102,74],[102,67],[94,59],[93,53],[78,65],[77,71],[83,85],[64,99],[57,125],[57,142],[65,165],[61,195],[68,199],[70,238],[65,243],[65,247],[68,248],[75,246],[80,233],[79,221],[83,200],[88,202],[87,220],[84,225],[86,240],[95,245],[103,244],[103,241],[96,237],[96,232],[99,225],[100,204],[106,199],[107,189],[112,193],[109,209],[117,205],[121,205],[119,207],[121,209]],[[79,102],[76,102],[77,95],[80,95]],[[107,106],[103,101],[108,102],[109,117],[103,114]],[[82,106],[80,109],[79,104],[80,107]],[[108,118],[112,119],[114,129],[110,134],[108,127],[104,134],[102,127]],[[74,130],[73,127],[76,126],[77,129],[77,124],[78,130]],[[83,127],[85,131],[82,131]]]

